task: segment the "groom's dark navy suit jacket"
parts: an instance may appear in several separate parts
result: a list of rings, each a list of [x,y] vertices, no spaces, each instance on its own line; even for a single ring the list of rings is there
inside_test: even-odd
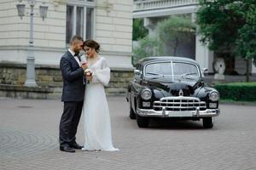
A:
[[[69,51],[61,57],[60,68],[63,79],[61,101],[84,100],[84,69]]]

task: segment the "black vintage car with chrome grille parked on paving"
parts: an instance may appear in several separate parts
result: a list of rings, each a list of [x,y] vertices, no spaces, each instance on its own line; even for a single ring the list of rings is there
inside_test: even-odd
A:
[[[150,118],[200,121],[213,127],[219,115],[218,91],[203,82],[200,65],[182,57],[148,57],[140,60],[129,83],[126,99],[131,119],[148,127]]]

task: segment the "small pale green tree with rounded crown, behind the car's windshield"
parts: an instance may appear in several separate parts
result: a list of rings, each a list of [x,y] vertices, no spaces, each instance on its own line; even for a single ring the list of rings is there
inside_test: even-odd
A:
[[[173,15],[161,21],[157,26],[161,42],[170,44],[173,54],[176,55],[177,46],[180,42],[188,42],[195,36],[195,24],[188,16]]]

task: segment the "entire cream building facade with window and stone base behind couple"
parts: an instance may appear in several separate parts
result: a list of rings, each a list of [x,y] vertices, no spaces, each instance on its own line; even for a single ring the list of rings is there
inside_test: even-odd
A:
[[[18,3],[26,4],[22,20],[16,8]],[[69,47],[70,38],[79,34],[84,39],[100,42],[100,54],[112,70],[108,91],[124,93],[125,83],[131,79],[127,74],[132,72],[132,3],[130,0],[37,0],[34,4],[33,44],[38,86],[60,91],[61,55]],[[48,6],[44,20],[39,15],[41,4]],[[0,84],[22,86],[26,80],[29,13],[27,0],[0,2]]]

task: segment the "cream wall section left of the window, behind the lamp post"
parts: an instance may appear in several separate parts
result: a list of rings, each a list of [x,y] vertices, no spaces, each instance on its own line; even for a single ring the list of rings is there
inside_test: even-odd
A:
[[[39,16],[39,6],[46,2],[47,18]],[[0,60],[26,63],[26,48],[29,42],[30,7],[27,1],[26,15],[20,20],[17,15],[18,1],[2,0],[0,3]],[[60,53],[65,49],[66,5],[38,1],[34,6],[34,47],[37,64],[58,64]]]

